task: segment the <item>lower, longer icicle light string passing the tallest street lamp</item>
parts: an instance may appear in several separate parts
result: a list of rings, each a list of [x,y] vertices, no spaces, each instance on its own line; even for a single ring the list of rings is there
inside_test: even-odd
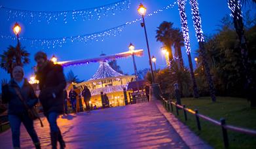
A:
[[[176,2],[167,5],[164,8],[160,8],[158,10],[155,10],[154,12],[151,12],[150,14],[147,14],[145,17],[153,16],[154,14],[158,14],[159,12],[162,12],[163,10],[167,10],[170,8],[173,8],[175,6]],[[19,37],[20,41],[29,41],[31,42],[31,46],[34,47],[46,47],[46,48],[57,48],[62,47],[64,44],[68,42],[83,42],[84,44],[87,44],[88,42],[92,41],[104,41],[105,37],[110,36],[117,36],[120,35],[120,33],[124,30],[124,27],[130,24],[135,24],[136,22],[140,22],[142,18],[137,18],[136,20],[132,20],[130,22],[126,22],[125,24],[118,25],[116,27],[112,27],[110,29],[106,29],[105,31],[100,31],[96,33],[90,33],[85,35],[77,35],[77,36],[71,36],[71,37],[59,37],[59,38],[45,38],[45,39],[37,39],[37,38],[27,38],[27,37]],[[10,39],[10,40],[16,40],[16,37],[12,35],[1,35],[1,39]]]

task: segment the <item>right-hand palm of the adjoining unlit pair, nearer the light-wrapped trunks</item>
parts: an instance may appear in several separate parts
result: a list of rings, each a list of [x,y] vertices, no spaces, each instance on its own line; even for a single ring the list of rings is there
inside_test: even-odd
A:
[[[179,68],[183,69],[184,64],[181,54],[181,47],[184,46],[183,34],[179,29],[175,29],[172,37],[174,39],[175,57],[178,59]]]

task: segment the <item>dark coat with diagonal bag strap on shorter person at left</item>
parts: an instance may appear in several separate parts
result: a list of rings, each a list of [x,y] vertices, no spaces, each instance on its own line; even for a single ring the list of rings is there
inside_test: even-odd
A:
[[[27,109],[20,100],[20,97],[14,90],[14,88],[17,88],[20,90],[20,93],[26,101],[27,106],[29,108],[35,106],[38,102],[38,98],[35,95],[35,92],[31,86],[27,82],[27,79],[24,80],[24,84],[22,88],[16,84],[16,82],[12,79],[10,80],[9,84],[6,84],[5,86],[2,87],[2,100],[3,103],[8,103],[8,114],[11,115],[19,115],[19,114],[27,114]]]

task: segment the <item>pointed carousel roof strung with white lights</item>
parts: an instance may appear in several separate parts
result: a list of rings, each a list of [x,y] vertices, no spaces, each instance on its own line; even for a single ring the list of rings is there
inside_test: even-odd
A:
[[[98,71],[89,80],[98,80],[102,78],[110,78],[115,76],[124,76],[124,74],[117,73],[117,71],[112,69],[107,62],[103,61],[100,62],[100,67]]]

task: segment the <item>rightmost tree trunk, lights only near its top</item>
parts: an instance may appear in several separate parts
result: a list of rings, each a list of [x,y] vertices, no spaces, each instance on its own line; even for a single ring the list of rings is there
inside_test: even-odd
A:
[[[241,10],[241,1],[240,0],[228,0],[228,5],[231,10],[230,16],[233,18],[234,28],[236,29],[236,34],[238,35],[238,39],[240,42],[241,56],[242,56],[242,64],[244,66],[244,78],[246,79],[246,88],[247,97],[249,97],[249,101],[251,101],[251,107],[256,107],[256,101],[253,99],[253,79],[250,73],[251,65],[248,58],[248,49],[247,49],[247,41],[246,35],[244,33],[244,23],[243,16]]]

